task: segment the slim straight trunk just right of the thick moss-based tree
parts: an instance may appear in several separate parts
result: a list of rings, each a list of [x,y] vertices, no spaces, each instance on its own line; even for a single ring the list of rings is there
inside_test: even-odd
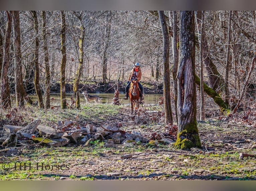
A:
[[[202,11],[202,20],[199,22],[199,19],[197,19],[197,28],[198,33],[200,34],[200,120],[205,120],[205,94],[204,94],[204,66],[203,66],[203,41],[205,41],[205,38],[202,38],[202,33],[204,31],[204,11]]]

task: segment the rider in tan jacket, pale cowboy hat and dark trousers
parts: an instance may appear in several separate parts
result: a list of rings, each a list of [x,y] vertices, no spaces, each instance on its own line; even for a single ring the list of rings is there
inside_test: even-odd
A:
[[[137,62],[134,65],[131,72],[130,72],[130,75],[129,75],[129,78],[128,78],[128,81],[127,81],[127,86],[125,87],[124,99],[128,99],[128,92],[129,92],[129,88],[130,88],[130,84],[131,84],[132,80],[137,80],[138,85],[140,87],[140,99],[141,100],[144,99],[144,97],[143,97],[144,90],[143,90],[142,85],[139,83],[139,81],[141,79],[141,75],[142,75],[142,72],[141,72],[141,69],[140,69],[140,64]]]

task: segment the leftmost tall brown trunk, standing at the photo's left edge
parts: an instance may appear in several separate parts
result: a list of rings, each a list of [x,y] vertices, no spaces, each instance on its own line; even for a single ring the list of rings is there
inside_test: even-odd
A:
[[[6,25],[6,33],[4,40],[4,57],[3,57],[3,65],[2,65],[2,84],[1,84],[1,106],[3,108],[11,107],[11,97],[9,90],[9,82],[8,82],[8,66],[9,66],[9,53],[10,53],[10,39],[11,39],[11,24],[12,24],[12,15],[13,11],[6,11],[8,21]]]

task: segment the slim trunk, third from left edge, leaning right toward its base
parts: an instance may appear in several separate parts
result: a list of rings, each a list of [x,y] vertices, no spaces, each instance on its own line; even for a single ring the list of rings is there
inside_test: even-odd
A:
[[[35,30],[35,50],[34,50],[35,80],[34,80],[34,84],[35,84],[35,92],[37,95],[39,108],[43,109],[44,108],[43,96],[42,96],[42,92],[40,89],[40,83],[39,83],[40,71],[39,71],[39,63],[38,63],[38,51],[39,51],[38,20],[37,20],[36,11],[31,11],[31,13],[32,13],[33,20],[34,20],[34,30]]]

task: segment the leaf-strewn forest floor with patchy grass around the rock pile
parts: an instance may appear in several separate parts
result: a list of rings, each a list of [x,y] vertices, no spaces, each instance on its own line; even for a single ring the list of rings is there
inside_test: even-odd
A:
[[[121,123],[121,130],[140,132],[151,141],[115,148],[106,148],[101,141],[92,141],[89,147],[30,146],[19,155],[0,157],[1,180],[256,180],[255,105],[246,113],[198,121],[202,148],[191,150],[156,142],[176,135],[175,125],[164,125],[163,105],[141,105],[136,114],[128,105],[83,103],[79,110],[26,106],[2,110],[0,130],[4,124],[24,126],[38,118],[47,126],[59,120],[97,127]]]

